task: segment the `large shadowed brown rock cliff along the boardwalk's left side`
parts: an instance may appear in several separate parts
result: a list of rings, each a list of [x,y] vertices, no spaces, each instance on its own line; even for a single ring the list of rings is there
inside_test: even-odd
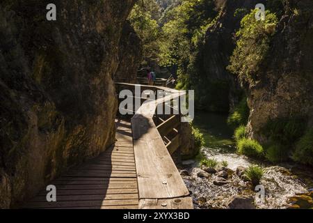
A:
[[[0,3],[0,208],[113,144],[113,74],[135,0]]]

